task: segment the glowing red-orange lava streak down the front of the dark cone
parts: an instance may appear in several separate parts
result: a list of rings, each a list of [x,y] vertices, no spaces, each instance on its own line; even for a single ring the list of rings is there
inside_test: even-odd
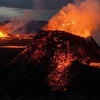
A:
[[[53,65],[56,63],[56,69],[48,76],[49,85],[52,90],[66,90],[66,85],[68,85],[68,67],[71,65],[73,59],[65,55],[64,53],[56,53],[53,60]]]

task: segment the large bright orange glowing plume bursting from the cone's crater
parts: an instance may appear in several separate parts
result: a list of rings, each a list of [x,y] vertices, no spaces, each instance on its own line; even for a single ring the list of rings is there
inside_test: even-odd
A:
[[[79,7],[68,4],[43,27],[43,30],[59,30],[88,37],[100,23],[99,10],[96,0],[86,0]]]

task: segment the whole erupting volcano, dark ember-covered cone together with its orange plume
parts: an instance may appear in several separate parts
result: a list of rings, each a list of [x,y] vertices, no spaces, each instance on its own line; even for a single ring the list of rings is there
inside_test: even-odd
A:
[[[92,82],[91,75],[85,76],[85,73],[93,73],[90,64],[100,62],[100,47],[91,37],[91,32],[96,30],[99,24],[100,9],[96,0],[90,1],[86,0],[80,6],[68,4],[60,10],[35,35],[33,42],[6,67],[14,66],[17,71],[21,69],[21,73],[23,66],[27,66],[32,72],[32,84],[34,87],[41,84],[39,87],[42,89],[42,86],[47,86],[51,90],[68,90],[74,84],[71,79],[77,78],[81,73],[79,79],[86,78],[88,82]],[[92,74],[93,79],[96,75]]]

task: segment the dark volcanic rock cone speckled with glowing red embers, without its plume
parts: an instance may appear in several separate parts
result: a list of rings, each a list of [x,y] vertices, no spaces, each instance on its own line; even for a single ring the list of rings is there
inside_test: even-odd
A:
[[[89,64],[99,60],[100,48],[92,37],[86,39],[63,31],[40,31],[32,44],[0,73],[6,77],[1,85],[6,87],[2,90],[3,95],[50,90],[96,94],[96,89],[100,89],[100,69]]]

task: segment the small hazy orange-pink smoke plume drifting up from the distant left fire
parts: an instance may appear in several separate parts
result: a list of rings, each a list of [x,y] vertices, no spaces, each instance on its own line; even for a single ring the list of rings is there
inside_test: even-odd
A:
[[[30,10],[24,10],[22,16],[12,18],[7,24],[0,27],[5,33],[14,34],[17,29],[24,26],[32,19],[32,13]],[[18,34],[18,33],[17,33]]]

